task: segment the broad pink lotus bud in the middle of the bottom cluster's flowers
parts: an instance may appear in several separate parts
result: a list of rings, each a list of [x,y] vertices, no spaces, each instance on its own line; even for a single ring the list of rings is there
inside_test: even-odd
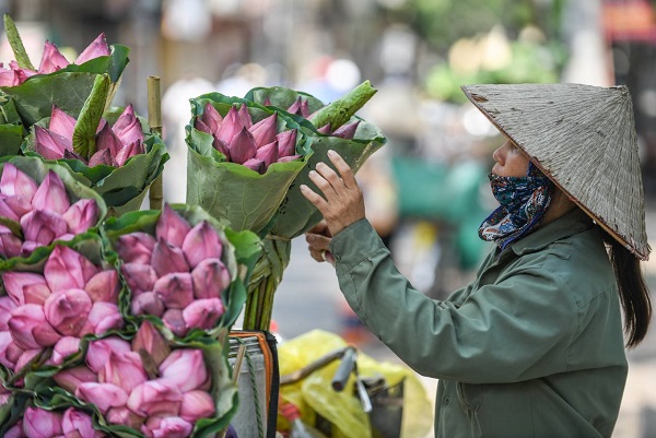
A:
[[[187,368],[186,375],[194,368]],[[168,379],[148,380],[130,392],[127,406],[141,416],[177,416],[183,402],[179,388]]]

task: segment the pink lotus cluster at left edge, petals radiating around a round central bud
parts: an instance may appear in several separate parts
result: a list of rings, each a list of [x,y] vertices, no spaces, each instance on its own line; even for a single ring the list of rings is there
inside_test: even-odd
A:
[[[118,310],[118,272],[101,269],[81,253],[56,246],[43,272],[7,271],[0,297],[0,364],[16,374],[46,348],[61,365],[81,338],[124,327]]]

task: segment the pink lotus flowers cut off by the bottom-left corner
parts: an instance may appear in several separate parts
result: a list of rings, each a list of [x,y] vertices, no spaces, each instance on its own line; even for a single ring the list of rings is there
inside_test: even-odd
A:
[[[91,415],[69,407],[55,412],[30,406],[25,415],[4,433],[4,438],[104,438],[107,435],[94,430]]]

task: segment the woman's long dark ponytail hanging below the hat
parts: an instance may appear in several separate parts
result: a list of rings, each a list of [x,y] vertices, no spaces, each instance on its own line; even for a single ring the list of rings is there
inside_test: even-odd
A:
[[[652,319],[649,289],[645,283],[640,260],[608,233],[604,233],[604,240],[609,247],[608,253],[618,281],[620,303],[624,310],[626,346],[634,347],[647,334]]]

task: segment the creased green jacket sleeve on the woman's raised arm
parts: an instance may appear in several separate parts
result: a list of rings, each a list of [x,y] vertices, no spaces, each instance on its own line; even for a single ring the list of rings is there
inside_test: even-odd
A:
[[[415,371],[495,383],[566,370],[578,316],[558,273],[517,272],[461,303],[437,301],[399,273],[366,220],[339,233],[330,250],[349,305]]]

